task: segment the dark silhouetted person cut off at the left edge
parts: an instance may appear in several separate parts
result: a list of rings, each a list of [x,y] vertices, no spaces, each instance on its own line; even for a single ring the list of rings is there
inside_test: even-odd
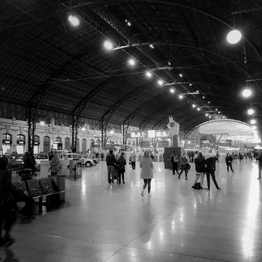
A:
[[[17,206],[12,197],[12,175],[8,168],[8,158],[0,158],[0,245],[7,247],[15,240],[10,236],[10,230],[15,223]],[[4,214],[4,215],[3,215]],[[3,223],[3,228],[2,228]],[[3,229],[3,230],[2,230]]]

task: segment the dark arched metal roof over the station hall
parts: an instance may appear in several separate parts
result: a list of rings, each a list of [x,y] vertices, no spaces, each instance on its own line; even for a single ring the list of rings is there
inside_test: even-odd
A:
[[[145,128],[163,128],[172,113],[184,131],[205,122],[205,112],[215,108],[249,122],[252,106],[261,127],[261,81],[251,82],[251,99],[240,97],[245,80],[261,78],[261,12],[255,0],[3,1],[1,100],[29,104],[38,96],[46,110],[97,119],[110,112],[112,122],[129,119]],[[71,13],[79,27],[68,23]],[[233,24],[244,38],[229,45]],[[114,50],[103,49],[105,39]],[[135,67],[128,66],[129,57]],[[152,79],[145,78],[146,70]],[[159,78],[176,83],[175,94],[169,85],[159,87]]]

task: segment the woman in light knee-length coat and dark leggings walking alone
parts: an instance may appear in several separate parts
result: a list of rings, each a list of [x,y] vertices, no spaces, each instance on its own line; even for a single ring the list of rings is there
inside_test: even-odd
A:
[[[150,158],[150,153],[148,151],[145,151],[144,157],[140,161],[140,168],[141,168],[140,178],[144,180],[141,196],[144,196],[145,189],[147,187],[148,197],[151,197],[150,190],[151,190],[151,180],[154,177],[153,175],[154,164],[152,159]]]

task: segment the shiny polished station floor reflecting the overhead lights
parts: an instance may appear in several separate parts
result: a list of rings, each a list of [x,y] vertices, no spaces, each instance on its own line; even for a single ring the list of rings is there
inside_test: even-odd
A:
[[[217,191],[191,189],[163,163],[154,163],[152,198],[140,196],[140,168],[126,168],[126,184],[108,185],[105,162],[66,181],[64,206],[34,220],[18,220],[16,242],[1,261],[261,262],[262,184],[257,163],[217,164]]]

